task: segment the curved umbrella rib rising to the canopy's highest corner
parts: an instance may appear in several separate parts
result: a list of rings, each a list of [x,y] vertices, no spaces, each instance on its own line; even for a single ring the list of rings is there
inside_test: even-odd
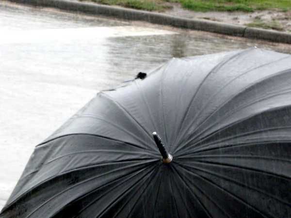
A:
[[[194,99],[195,99],[195,97],[196,97],[198,91],[200,90],[200,88],[201,88],[202,85],[204,84],[204,82],[205,82],[205,81],[210,77],[210,75],[211,75],[213,72],[220,70],[221,67],[223,67],[226,63],[228,63],[229,61],[231,61],[231,60],[235,59],[236,57],[242,55],[243,53],[249,52],[250,50],[251,50],[251,49],[242,50],[241,52],[238,52],[238,53],[232,55],[231,57],[228,57],[224,62],[219,62],[218,64],[216,64],[216,65],[215,65],[215,66],[214,66],[214,67],[209,71],[209,73],[206,75],[206,77],[201,81],[201,83],[200,83],[199,86],[197,87],[197,90],[195,91],[193,97],[191,98],[190,103],[188,104],[188,107],[187,107],[187,109],[186,109],[186,111],[185,111],[185,113],[184,113],[184,115],[183,115],[183,117],[182,117],[182,120],[181,120],[181,122],[180,122],[180,125],[178,126],[179,131],[178,131],[177,136],[179,136],[179,134],[180,134],[180,132],[181,132],[181,129],[182,129],[182,126],[183,126],[183,124],[184,124],[184,122],[185,122],[185,119],[186,119],[186,117],[187,117],[187,115],[188,115],[188,113],[189,113],[189,110],[190,110],[190,108],[191,108],[191,105],[192,105],[192,103],[193,103],[193,101],[194,101]],[[181,137],[177,137],[177,138],[181,138]],[[176,142],[177,142],[177,140],[175,140],[175,143],[174,143],[174,144],[176,144]]]

